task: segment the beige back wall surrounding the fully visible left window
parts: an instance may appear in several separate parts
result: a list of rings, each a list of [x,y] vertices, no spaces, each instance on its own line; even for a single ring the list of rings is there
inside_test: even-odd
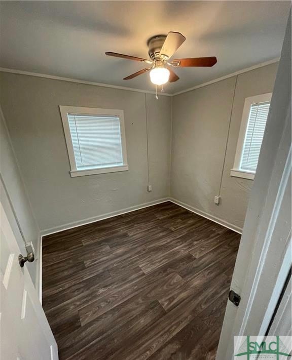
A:
[[[133,91],[4,72],[0,76],[0,101],[41,230],[169,195],[170,97],[157,101]],[[123,109],[129,171],[71,178],[59,105]],[[147,191],[145,105],[152,192]]]

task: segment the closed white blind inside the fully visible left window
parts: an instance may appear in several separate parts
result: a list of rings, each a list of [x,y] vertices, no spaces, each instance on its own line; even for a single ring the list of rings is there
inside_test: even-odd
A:
[[[67,116],[77,170],[123,165],[119,116]]]

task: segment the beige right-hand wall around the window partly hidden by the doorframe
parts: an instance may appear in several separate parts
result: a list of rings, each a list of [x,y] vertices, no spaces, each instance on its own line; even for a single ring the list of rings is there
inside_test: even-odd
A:
[[[171,196],[237,230],[243,227],[253,183],[230,176],[244,100],[272,92],[277,66],[173,97]],[[215,195],[221,196],[219,205]]]

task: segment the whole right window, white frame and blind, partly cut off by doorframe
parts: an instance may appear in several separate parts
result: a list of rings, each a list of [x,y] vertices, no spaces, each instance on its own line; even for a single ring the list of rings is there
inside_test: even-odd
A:
[[[257,170],[272,93],[245,99],[231,176],[253,179]]]

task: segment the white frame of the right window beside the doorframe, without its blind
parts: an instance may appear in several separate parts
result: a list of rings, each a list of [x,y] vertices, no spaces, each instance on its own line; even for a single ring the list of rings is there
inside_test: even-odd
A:
[[[241,170],[240,169],[240,163],[241,163],[241,157],[243,154],[243,146],[244,146],[244,140],[245,135],[247,131],[247,125],[248,125],[248,119],[249,119],[249,113],[251,105],[258,104],[262,102],[271,102],[273,93],[266,93],[261,95],[255,95],[250,96],[248,98],[245,98],[244,101],[244,107],[242,112],[242,118],[241,118],[241,124],[240,124],[240,130],[237,140],[237,146],[236,146],[236,153],[234,158],[234,165],[233,168],[230,171],[230,175],[234,177],[244,178],[253,180],[255,171],[248,171],[248,170]]]

